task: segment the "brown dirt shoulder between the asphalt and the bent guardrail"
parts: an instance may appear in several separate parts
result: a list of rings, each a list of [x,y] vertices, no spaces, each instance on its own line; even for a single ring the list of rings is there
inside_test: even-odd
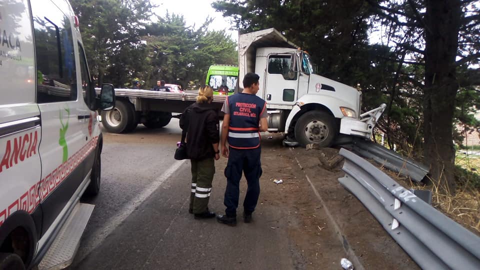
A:
[[[262,142],[260,201],[288,211],[288,235],[297,269],[340,269],[340,259],[347,257],[304,173],[365,269],[419,269],[363,204],[338,183],[344,175],[338,149],[290,149],[280,142],[279,135]],[[280,178],[283,183],[273,183]]]

